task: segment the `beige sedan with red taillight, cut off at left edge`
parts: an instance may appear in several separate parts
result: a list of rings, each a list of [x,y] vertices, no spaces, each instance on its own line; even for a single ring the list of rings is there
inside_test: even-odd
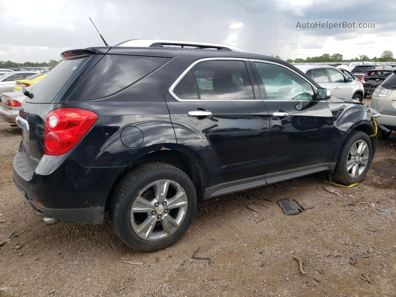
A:
[[[21,92],[2,93],[0,105],[0,119],[5,122],[15,124],[15,120],[19,114],[19,108],[26,96]]]

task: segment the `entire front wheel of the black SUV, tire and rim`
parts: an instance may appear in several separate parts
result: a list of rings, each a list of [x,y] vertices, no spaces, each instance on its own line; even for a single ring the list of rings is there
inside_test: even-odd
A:
[[[331,178],[343,185],[359,183],[371,165],[373,148],[363,131],[352,131],[345,139]]]

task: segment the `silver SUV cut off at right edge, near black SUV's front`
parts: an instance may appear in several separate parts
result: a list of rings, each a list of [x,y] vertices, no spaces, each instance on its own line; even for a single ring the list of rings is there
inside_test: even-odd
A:
[[[381,115],[377,118],[378,138],[387,139],[392,131],[396,131],[396,70],[375,88],[371,109]]]

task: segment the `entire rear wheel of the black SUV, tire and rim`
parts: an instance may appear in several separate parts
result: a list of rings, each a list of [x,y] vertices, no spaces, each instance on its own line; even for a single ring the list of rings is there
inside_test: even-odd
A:
[[[196,192],[190,178],[169,164],[150,163],[120,181],[112,196],[110,219],[128,246],[156,251],[186,232],[195,209]]]

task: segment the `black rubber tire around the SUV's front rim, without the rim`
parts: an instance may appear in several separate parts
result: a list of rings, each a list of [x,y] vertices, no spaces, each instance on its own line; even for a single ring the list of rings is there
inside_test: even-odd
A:
[[[357,178],[352,178],[348,175],[348,171],[346,170],[346,161],[348,160],[349,150],[352,145],[358,140],[364,140],[367,143],[369,149],[369,159],[367,161],[367,166],[365,170],[359,175]],[[337,165],[335,166],[334,171],[331,173],[331,179],[342,185],[352,185],[354,183],[359,183],[366,177],[367,171],[370,168],[371,161],[373,158],[373,147],[371,145],[371,139],[369,135],[364,133],[363,131],[352,131],[345,139],[340,153],[338,155]]]

